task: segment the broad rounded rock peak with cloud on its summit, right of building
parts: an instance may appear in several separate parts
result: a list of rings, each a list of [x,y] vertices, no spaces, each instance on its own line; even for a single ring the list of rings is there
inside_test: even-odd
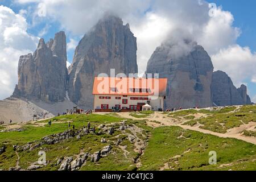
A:
[[[213,64],[202,46],[188,40],[183,46],[163,43],[156,48],[146,73],[168,78],[165,107],[212,106],[210,84]]]

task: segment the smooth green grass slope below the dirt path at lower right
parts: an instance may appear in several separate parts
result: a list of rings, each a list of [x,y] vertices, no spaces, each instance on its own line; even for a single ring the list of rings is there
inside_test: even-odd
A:
[[[183,137],[178,138],[181,134]],[[217,165],[208,163],[210,151],[217,152]],[[180,157],[174,159],[177,155]],[[180,127],[159,127],[152,131],[152,137],[141,157],[141,170],[159,170],[164,163],[169,163],[174,170],[255,170],[255,158],[254,144],[183,130]],[[240,160],[247,162],[240,165]],[[221,164],[229,163],[238,164],[218,168]]]

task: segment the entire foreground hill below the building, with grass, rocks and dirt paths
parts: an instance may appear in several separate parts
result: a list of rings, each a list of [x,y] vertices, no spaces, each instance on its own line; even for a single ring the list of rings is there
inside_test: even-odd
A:
[[[51,118],[51,127],[48,119],[5,125],[0,169],[255,170],[255,118],[252,105],[61,115]],[[46,152],[46,166],[37,163],[39,151]],[[210,151],[217,164],[209,164]]]

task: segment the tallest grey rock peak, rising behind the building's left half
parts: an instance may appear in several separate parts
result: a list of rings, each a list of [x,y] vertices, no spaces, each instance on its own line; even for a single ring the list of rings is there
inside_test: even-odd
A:
[[[100,73],[137,73],[137,43],[129,24],[105,16],[76,47],[69,69],[68,93],[71,101],[84,109],[93,107],[93,78]]]

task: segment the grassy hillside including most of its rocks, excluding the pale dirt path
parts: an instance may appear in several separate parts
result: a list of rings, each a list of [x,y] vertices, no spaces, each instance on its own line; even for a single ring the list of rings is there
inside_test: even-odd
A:
[[[207,120],[192,117],[197,113],[207,114]],[[238,113],[242,116],[236,116]],[[236,110],[229,107],[216,111],[186,110],[164,114],[170,118],[185,117],[188,120],[186,125],[191,125],[192,122],[205,122],[207,129],[222,132],[239,125],[238,119],[231,125],[232,119],[242,117],[245,121],[253,121],[255,113],[254,107],[252,113],[251,108]],[[47,165],[40,166],[38,170],[58,170],[67,157],[75,161],[84,154],[88,154],[88,158],[77,168],[79,170],[256,170],[256,145],[242,140],[184,130],[177,126],[153,128],[147,125],[147,118],[151,114],[154,113],[135,114],[139,120],[121,118],[117,114],[64,115],[53,118],[51,127],[46,120],[21,125],[24,131],[1,132],[0,148],[4,147],[5,150],[0,154],[0,169],[19,167],[26,170],[36,164],[38,152],[45,151]],[[143,119],[141,115],[146,118]],[[232,119],[229,119],[228,115]],[[225,125],[213,129],[213,117]],[[71,122],[71,126],[75,125],[75,130],[68,131],[76,133],[74,137],[54,144],[45,142],[43,137],[51,135],[48,138],[54,138],[66,132],[68,122]],[[88,122],[91,127],[96,126],[95,134],[92,131],[83,134],[83,128]],[[215,125],[218,126],[214,122]],[[113,134],[109,133],[111,128]],[[2,127],[2,130],[5,130],[5,127]],[[102,138],[105,139],[105,143],[102,142]],[[97,162],[92,162],[91,156],[106,146],[111,146],[111,151],[102,155]],[[217,152],[216,165],[208,163],[210,151]]]

